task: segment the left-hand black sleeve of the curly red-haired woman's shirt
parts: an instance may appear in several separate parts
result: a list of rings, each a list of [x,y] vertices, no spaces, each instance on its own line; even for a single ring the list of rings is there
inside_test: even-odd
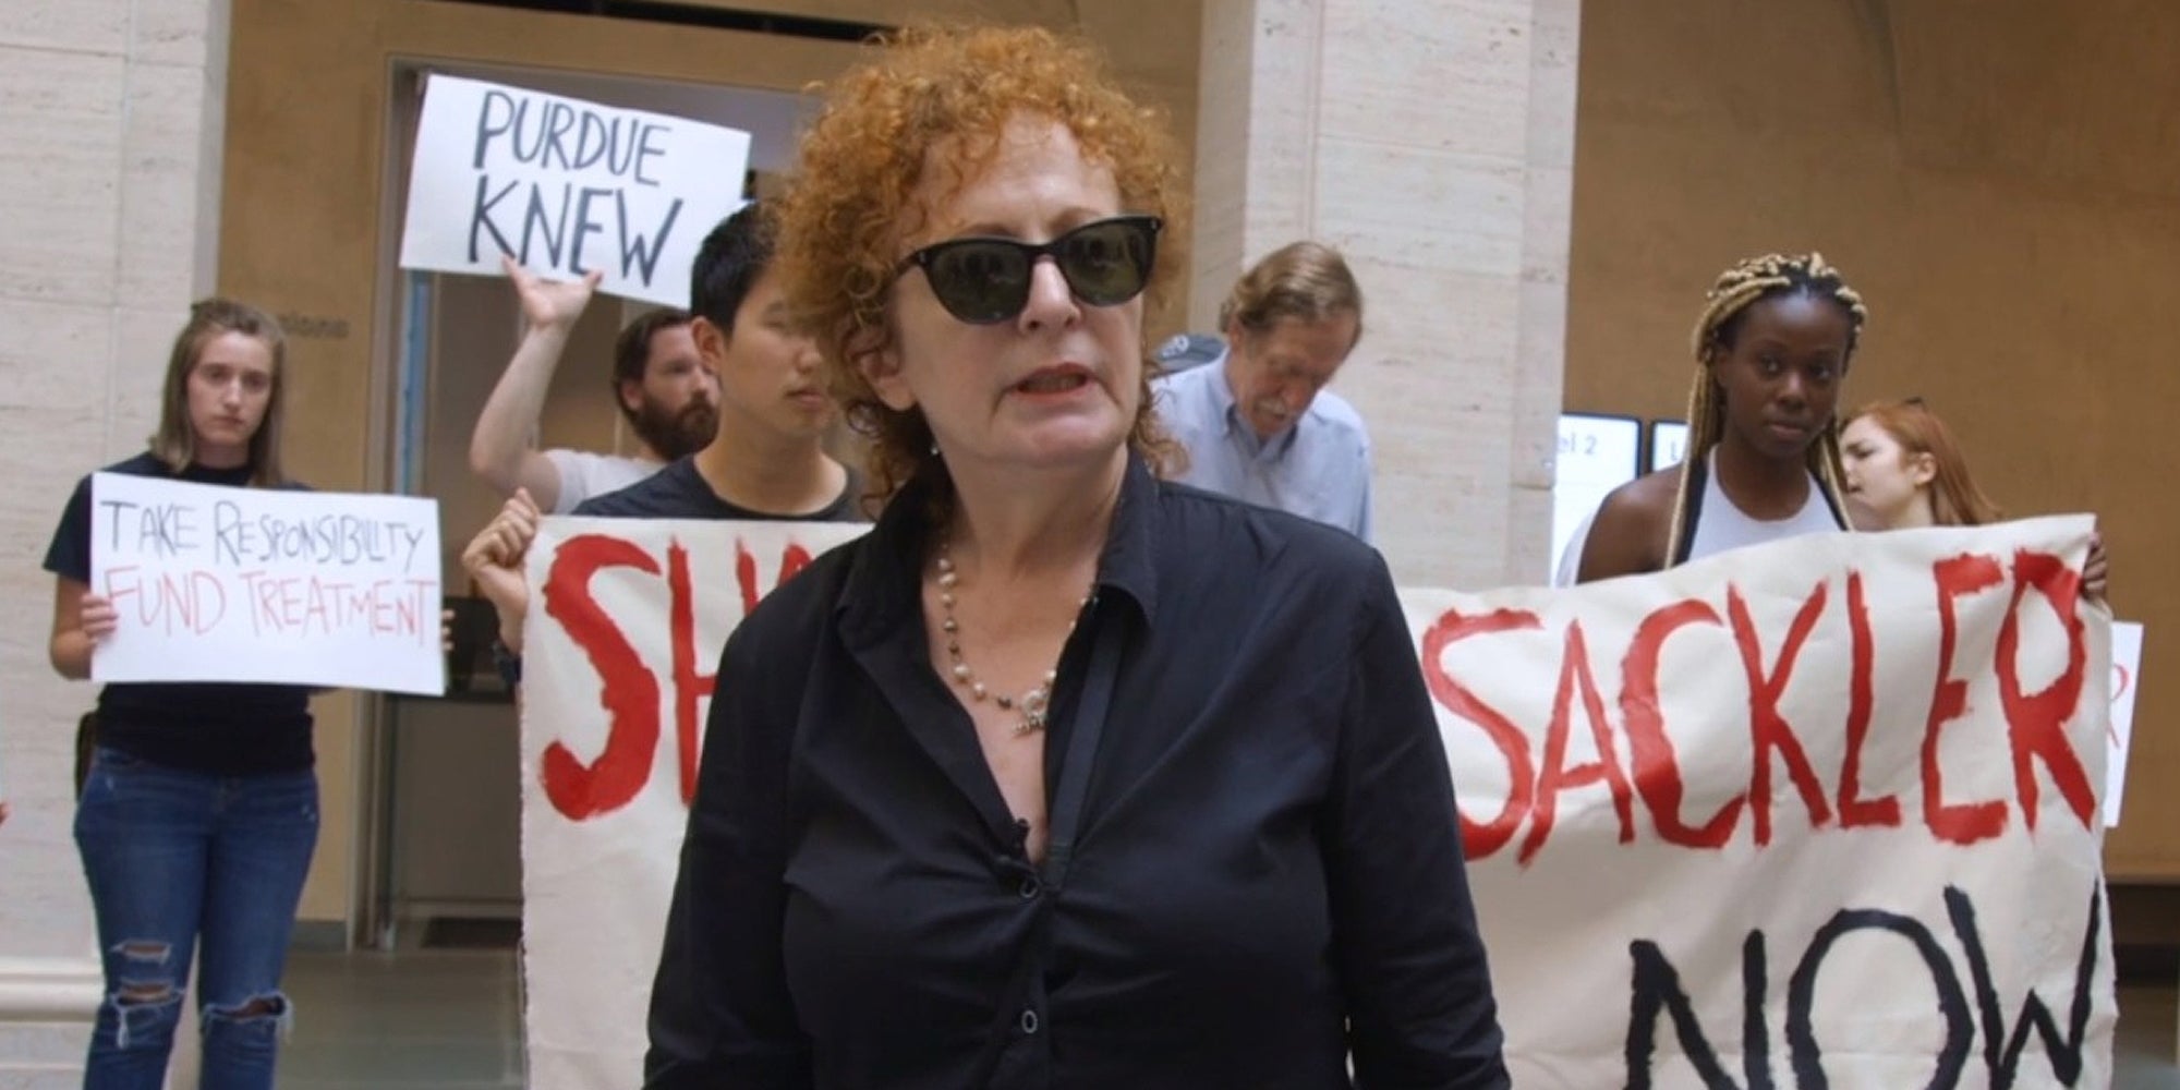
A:
[[[689,831],[652,983],[645,1088],[813,1086],[809,1038],[787,996],[785,798],[794,687],[756,663],[739,628],[719,656]],[[780,693],[780,695],[767,695]]]

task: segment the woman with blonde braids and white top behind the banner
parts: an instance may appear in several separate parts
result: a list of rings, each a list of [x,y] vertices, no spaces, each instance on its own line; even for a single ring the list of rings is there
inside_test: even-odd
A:
[[[1687,458],[1604,497],[1578,582],[1846,528],[1833,410],[1862,296],[1822,255],[1775,253],[1724,270],[1707,299]]]

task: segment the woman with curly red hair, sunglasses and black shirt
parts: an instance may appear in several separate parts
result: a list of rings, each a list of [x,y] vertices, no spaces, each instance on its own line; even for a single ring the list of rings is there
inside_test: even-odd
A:
[[[883,510],[719,661],[647,1086],[1506,1086],[1384,560],[1155,475],[1173,161],[1044,31],[896,37],[804,137]]]

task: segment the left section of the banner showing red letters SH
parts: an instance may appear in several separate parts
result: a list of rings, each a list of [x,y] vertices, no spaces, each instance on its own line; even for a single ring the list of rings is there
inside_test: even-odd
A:
[[[859,523],[549,517],[523,628],[532,1090],[637,1086],[698,741],[728,632]]]

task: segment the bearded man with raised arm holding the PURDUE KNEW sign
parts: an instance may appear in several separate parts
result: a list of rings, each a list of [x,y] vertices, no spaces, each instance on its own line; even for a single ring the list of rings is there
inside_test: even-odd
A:
[[[698,353],[689,314],[665,307],[628,323],[613,344],[613,399],[637,436],[637,453],[536,449],[530,434],[600,272],[554,283],[530,275],[512,257],[501,264],[521,296],[525,329],[477,414],[469,438],[473,473],[501,495],[525,488],[545,510],[565,514],[711,443],[719,427],[719,382]]]

